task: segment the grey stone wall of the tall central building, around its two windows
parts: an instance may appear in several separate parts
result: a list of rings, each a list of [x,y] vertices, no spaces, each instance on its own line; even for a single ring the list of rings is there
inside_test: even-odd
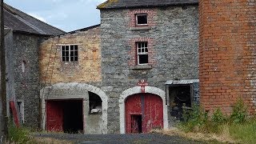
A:
[[[136,11],[150,12],[150,26],[133,26],[130,14]],[[109,96],[108,130],[120,133],[118,99],[124,90],[137,86],[142,78],[164,91],[167,80],[198,78],[198,6],[101,10],[101,20],[102,86]],[[135,63],[133,40],[139,38],[151,42],[148,66]]]

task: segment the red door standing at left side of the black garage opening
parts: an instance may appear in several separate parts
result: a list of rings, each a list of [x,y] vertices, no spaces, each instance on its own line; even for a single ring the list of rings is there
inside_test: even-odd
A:
[[[58,101],[46,102],[46,128],[49,131],[63,131],[63,107]]]

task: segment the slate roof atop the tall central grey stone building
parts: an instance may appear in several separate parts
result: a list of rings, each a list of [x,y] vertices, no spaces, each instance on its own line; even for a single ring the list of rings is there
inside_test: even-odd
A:
[[[198,0],[108,0],[97,8],[101,10],[180,5],[198,5]]]

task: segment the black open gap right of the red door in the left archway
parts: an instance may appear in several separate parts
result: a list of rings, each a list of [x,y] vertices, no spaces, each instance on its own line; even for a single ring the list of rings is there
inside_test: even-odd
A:
[[[83,130],[82,122],[82,101],[66,101],[63,103],[64,118],[63,130],[64,133],[78,133]]]

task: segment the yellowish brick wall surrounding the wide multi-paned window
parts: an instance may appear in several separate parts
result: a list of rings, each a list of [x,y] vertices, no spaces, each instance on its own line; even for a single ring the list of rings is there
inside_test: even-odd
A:
[[[101,82],[99,34],[99,26],[94,26],[42,42],[39,54],[41,83]],[[60,45],[70,44],[78,45],[78,62],[62,62]]]

